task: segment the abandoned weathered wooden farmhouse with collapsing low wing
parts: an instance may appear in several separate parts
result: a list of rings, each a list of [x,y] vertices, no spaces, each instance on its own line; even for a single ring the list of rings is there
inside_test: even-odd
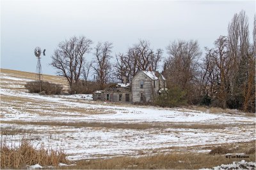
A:
[[[131,83],[118,83],[116,87],[93,93],[93,100],[119,103],[147,103],[166,90],[166,79],[157,71],[139,71]]]

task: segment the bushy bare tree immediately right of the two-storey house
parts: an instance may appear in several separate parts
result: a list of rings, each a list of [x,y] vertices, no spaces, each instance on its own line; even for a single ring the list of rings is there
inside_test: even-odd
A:
[[[165,60],[164,76],[168,85],[179,87],[187,92],[189,103],[193,103],[200,78],[198,75],[198,59],[202,52],[197,41],[173,41],[167,46],[169,54]]]

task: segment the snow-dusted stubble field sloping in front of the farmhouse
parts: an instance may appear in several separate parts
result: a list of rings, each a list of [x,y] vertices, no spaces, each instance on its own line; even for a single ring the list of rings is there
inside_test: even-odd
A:
[[[39,96],[26,92],[26,81],[29,79],[1,73],[1,131],[31,132],[29,138],[35,145],[45,143],[45,146],[61,148],[70,160],[168,153],[174,147],[180,150],[194,147],[194,152],[209,152],[204,150],[205,145],[255,139],[255,117],[244,114],[115,105],[92,101],[91,95]],[[66,124],[60,124],[63,122]],[[88,122],[113,126],[83,126]],[[115,124],[124,124],[124,127],[116,128]],[[125,128],[129,124],[149,126]],[[196,125],[216,125],[216,128],[193,128]],[[21,136],[1,138],[10,145],[18,145]]]

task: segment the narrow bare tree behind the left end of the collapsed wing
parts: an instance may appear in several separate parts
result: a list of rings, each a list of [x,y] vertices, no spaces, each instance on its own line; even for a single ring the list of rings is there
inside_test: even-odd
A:
[[[104,89],[104,85],[107,83],[109,73],[111,73],[111,64],[109,60],[111,57],[111,50],[113,44],[106,41],[105,43],[98,43],[95,47],[94,58],[92,67],[97,74],[97,80],[100,83],[100,89]]]

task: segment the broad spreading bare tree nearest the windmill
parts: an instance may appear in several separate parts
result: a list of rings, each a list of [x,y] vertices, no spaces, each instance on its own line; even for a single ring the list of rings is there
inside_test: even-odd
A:
[[[85,54],[89,53],[92,40],[84,36],[76,36],[62,41],[52,55],[51,66],[57,69],[57,74],[67,78],[70,87],[79,81],[85,61]]]

